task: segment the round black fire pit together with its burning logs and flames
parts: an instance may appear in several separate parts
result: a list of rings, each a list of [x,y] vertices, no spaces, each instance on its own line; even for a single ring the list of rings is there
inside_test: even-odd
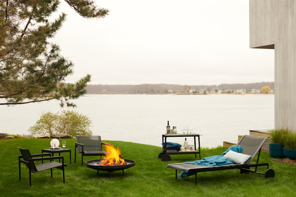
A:
[[[99,170],[110,172],[111,178],[111,172],[117,170],[122,170],[123,172],[124,169],[133,167],[136,163],[130,159],[123,159],[120,155],[120,150],[112,145],[107,145],[106,151],[106,158],[87,161],[85,162],[86,167],[98,170],[97,174],[99,174]]]

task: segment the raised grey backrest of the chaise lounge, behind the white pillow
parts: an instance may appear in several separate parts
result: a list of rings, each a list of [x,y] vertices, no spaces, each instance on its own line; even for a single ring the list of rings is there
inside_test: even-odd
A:
[[[251,155],[245,164],[252,162],[268,137],[242,136],[237,145],[242,146],[242,154]]]

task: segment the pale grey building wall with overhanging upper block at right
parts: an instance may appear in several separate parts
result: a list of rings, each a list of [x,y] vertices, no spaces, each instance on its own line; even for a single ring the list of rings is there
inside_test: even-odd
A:
[[[274,49],[274,127],[296,130],[296,1],[250,0],[250,48]]]

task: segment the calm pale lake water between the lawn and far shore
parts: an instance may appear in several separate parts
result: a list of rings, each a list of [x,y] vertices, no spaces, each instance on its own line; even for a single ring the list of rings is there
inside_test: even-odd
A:
[[[0,100],[0,102],[3,100]],[[74,101],[74,110],[93,121],[93,135],[161,146],[167,121],[192,126],[204,147],[237,140],[249,130],[274,128],[274,95],[86,95]],[[65,108],[72,109],[72,108]],[[61,111],[58,101],[7,107],[0,105],[0,133],[29,134],[42,111]],[[193,138],[187,138],[193,144]],[[183,144],[184,138],[168,138]]]

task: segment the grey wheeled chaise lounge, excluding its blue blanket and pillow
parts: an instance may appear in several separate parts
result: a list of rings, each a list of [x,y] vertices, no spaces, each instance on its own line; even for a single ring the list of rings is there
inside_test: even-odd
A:
[[[195,186],[197,185],[197,172],[208,172],[208,171],[217,171],[217,170],[229,170],[229,169],[240,169],[241,173],[245,172],[252,172],[256,174],[262,174],[265,175],[265,178],[270,178],[274,177],[274,170],[270,169],[268,166],[268,163],[259,163],[259,157],[260,157],[260,152],[261,152],[261,147],[263,146],[264,142],[268,137],[255,137],[255,136],[242,136],[240,141],[237,143],[237,145],[240,145],[243,147],[243,154],[248,154],[250,155],[250,152],[244,149],[244,144],[245,139],[259,139],[262,140],[261,144],[258,146],[258,148],[251,150],[253,152],[252,157],[247,160],[246,163],[244,164],[229,164],[229,165],[220,165],[220,166],[203,166],[203,165],[196,165],[196,164],[188,164],[188,163],[177,163],[177,164],[168,164],[167,168],[175,169],[176,170],[176,179],[177,179],[177,171],[181,170],[184,172],[195,172]],[[247,152],[247,153],[246,153]],[[252,160],[254,157],[257,155],[257,162],[255,164],[251,164]],[[257,167],[259,166],[266,166],[267,170],[265,173],[257,172]],[[255,170],[251,170],[250,167],[255,167]]]

